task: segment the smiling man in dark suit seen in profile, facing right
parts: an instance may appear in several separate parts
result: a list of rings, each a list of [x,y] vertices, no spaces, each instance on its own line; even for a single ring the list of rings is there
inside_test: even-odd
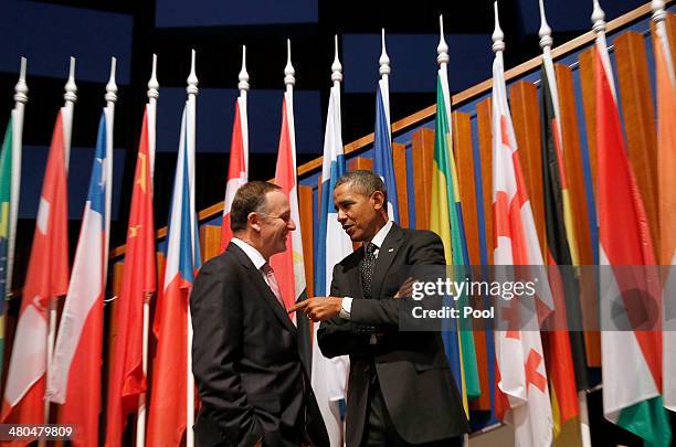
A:
[[[267,182],[240,188],[233,240],[201,268],[190,297],[198,446],[329,446],[270,257],[296,228],[286,195]]]

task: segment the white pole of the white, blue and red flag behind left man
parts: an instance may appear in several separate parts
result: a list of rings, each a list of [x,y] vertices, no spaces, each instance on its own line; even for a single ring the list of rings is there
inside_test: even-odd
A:
[[[194,181],[194,130],[196,130],[196,102],[198,94],[198,78],[194,73],[194,50],[192,50],[192,58],[190,66],[190,75],[188,76],[188,107],[187,107],[187,126],[186,126],[186,162],[188,163],[188,179]],[[192,265],[194,265],[194,241],[196,241],[196,222],[192,219],[194,212],[194,184],[189,184],[190,194],[190,241],[192,249]],[[187,411],[186,411],[186,445],[187,447],[193,447],[194,445],[194,433],[192,432],[192,425],[194,424],[194,376],[192,375],[192,317],[190,315],[190,306],[188,306],[188,349],[187,349],[187,371],[188,377],[186,382],[187,392]]]

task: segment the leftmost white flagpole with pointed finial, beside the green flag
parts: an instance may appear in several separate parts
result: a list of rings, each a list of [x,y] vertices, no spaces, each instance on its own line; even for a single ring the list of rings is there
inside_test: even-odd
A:
[[[21,188],[21,152],[23,136],[23,111],[28,103],[28,85],[25,84],[25,57],[21,57],[19,82],[14,86],[14,109],[12,110],[12,185],[10,199],[10,228],[7,251],[7,297],[12,296],[12,268],[14,260],[14,244],[17,242],[17,219],[19,217],[19,195]]]

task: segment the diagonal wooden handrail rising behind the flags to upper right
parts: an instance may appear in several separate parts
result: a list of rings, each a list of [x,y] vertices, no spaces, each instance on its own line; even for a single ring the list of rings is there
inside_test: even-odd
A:
[[[676,0],[667,0],[665,7],[670,6]],[[615,30],[622,29],[626,26],[627,24],[636,20],[643,19],[644,17],[647,17],[649,14],[652,14],[651,3],[647,2],[646,4],[638,7],[634,9],[633,11],[630,11],[608,22],[606,32],[611,33]],[[552,57],[556,60],[558,57],[562,57],[570,53],[573,53],[580,50],[582,46],[593,42],[594,39],[595,39],[594,32],[588,31],[587,33],[579,35],[578,38],[552,49],[551,51]],[[488,40],[486,42],[488,42]],[[538,68],[541,65],[541,63],[542,63],[541,55],[538,55],[529,61],[526,61],[515,66],[514,68],[510,68],[507,72],[505,72],[505,81],[510,81],[516,77],[520,77],[525,75],[526,73],[529,73]],[[490,88],[493,88],[493,78],[488,78],[463,92],[460,92],[453,95],[453,97],[451,98],[452,107],[463,104],[476,96],[479,96],[488,92]],[[436,114],[436,105],[431,105],[429,107],[423,108],[422,110],[419,110],[412,115],[409,115],[392,124],[392,135],[401,130],[404,130],[418,123],[424,121],[433,117],[435,114]],[[373,132],[345,145],[344,152],[347,156],[351,152],[363,149],[365,147],[367,147],[368,145],[372,142],[373,142]],[[298,167],[298,177],[310,173],[319,169],[320,167],[321,167],[321,157],[317,157],[316,159],[310,160],[304,163],[303,166]],[[221,202],[214,203],[213,205],[200,211],[198,214],[198,220],[201,222],[207,219],[213,217],[222,212],[223,212],[223,202],[221,201]],[[156,232],[156,240],[160,240],[165,237],[166,235],[167,235],[167,227],[165,226],[162,228],[159,228]],[[125,253],[125,245],[120,245],[110,252],[109,259],[117,258],[124,255],[124,253]]]

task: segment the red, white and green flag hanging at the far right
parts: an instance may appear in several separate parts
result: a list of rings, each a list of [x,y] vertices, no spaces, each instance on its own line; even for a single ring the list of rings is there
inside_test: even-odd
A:
[[[634,330],[633,311],[636,305],[656,305],[637,300],[635,295],[641,289],[645,300],[658,298],[655,255],[601,36],[596,39],[595,95],[601,320],[610,324],[601,332],[603,412],[645,444],[666,446],[672,434],[661,396],[662,333],[655,328]],[[631,270],[620,266],[631,266]],[[629,329],[617,326],[623,322],[631,324]]]

